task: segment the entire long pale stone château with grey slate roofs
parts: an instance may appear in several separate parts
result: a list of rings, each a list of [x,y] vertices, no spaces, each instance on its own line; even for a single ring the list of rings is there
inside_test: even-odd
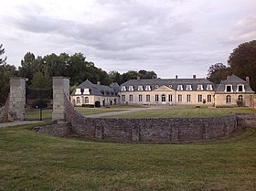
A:
[[[232,75],[220,84],[206,79],[128,80],[119,86],[93,84],[86,80],[71,94],[78,106],[112,104],[208,105],[216,107],[251,106],[254,91],[249,80]]]

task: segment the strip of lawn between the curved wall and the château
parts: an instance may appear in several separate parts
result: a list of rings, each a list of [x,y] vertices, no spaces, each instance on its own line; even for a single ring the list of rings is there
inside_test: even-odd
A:
[[[251,108],[196,108],[187,106],[171,106],[167,108],[150,109],[146,111],[133,111],[125,114],[112,115],[111,117],[218,117],[229,115],[230,113],[256,113],[256,110]]]

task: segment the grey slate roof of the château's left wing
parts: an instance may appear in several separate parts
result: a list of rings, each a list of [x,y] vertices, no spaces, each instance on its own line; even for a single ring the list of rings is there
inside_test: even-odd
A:
[[[119,91],[119,85],[117,83],[112,83],[111,86],[105,86],[101,84],[93,84],[90,80],[85,80],[76,89],[80,88],[81,92],[84,89],[90,90],[90,95],[99,96],[117,96]],[[75,95],[76,90],[73,90],[71,95]]]

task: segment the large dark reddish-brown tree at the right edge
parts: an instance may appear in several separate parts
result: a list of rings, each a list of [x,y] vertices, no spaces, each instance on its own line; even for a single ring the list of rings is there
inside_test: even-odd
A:
[[[250,77],[251,88],[256,91],[256,40],[242,43],[235,48],[228,63],[234,74],[241,79]]]

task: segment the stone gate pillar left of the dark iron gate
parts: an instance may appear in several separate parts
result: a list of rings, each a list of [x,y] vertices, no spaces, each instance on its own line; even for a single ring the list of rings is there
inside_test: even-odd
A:
[[[24,121],[26,105],[26,80],[24,78],[10,78],[10,100],[8,120]]]

